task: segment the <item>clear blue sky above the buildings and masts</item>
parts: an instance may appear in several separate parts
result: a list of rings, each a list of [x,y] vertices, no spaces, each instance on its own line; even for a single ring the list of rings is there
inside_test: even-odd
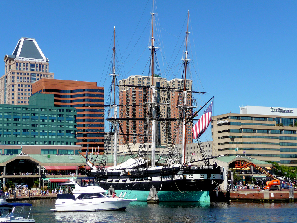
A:
[[[149,56],[151,8],[151,0],[0,1],[0,54],[12,54],[21,37],[35,38],[55,79],[102,86],[110,81],[116,26],[120,78],[141,75]],[[183,55],[188,10],[195,45],[190,56],[209,92],[205,100],[214,96],[213,115],[239,113],[246,104],[297,107],[297,1],[157,0],[161,72],[167,70],[165,55],[172,67]],[[178,69],[165,76],[173,78]]]

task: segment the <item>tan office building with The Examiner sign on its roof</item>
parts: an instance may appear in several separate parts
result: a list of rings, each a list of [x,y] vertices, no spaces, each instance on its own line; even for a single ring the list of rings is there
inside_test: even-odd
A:
[[[244,106],[238,114],[213,116],[213,154],[297,166],[296,114],[295,108]]]

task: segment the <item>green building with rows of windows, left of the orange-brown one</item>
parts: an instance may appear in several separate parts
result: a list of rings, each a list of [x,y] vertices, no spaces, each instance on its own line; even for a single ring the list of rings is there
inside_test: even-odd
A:
[[[29,106],[0,104],[0,144],[75,145],[75,108],[53,105],[48,94],[31,96]]]

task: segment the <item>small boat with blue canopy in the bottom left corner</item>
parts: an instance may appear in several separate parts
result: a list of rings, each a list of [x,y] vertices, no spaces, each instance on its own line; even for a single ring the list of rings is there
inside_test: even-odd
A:
[[[26,210],[26,207],[29,210]],[[1,222],[35,222],[32,213],[32,204],[29,203],[2,203],[0,216]],[[26,214],[26,216],[25,216]],[[27,216],[28,214],[28,216]]]

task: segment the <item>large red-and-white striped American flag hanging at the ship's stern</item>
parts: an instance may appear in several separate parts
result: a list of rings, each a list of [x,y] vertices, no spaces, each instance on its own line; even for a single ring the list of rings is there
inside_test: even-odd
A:
[[[203,132],[205,132],[205,130],[207,129],[207,127],[210,123],[210,120],[211,120],[211,112],[212,112],[212,103],[213,102],[214,101],[212,101],[210,103],[210,105],[208,106],[208,108],[206,109],[204,114],[200,117],[198,122],[192,128],[194,139],[198,139],[203,134]]]

